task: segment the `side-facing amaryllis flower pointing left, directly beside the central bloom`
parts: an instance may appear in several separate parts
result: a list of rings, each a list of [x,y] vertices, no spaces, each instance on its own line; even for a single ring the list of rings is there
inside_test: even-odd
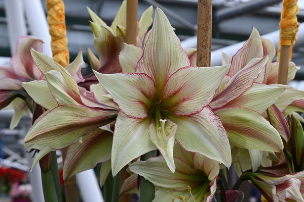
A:
[[[82,53],[69,65],[69,71],[45,54],[32,51],[32,56],[45,80],[22,85],[36,103],[48,109],[25,137],[26,148],[40,149],[32,168],[50,151],[66,146],[69,147],[63,170],[65,179],[108,161],[112,133],[99,127],[115,121],[117,110],[104,104],[108,98],[102,96],[101,90],[95,96],[94,92],[79,87],[78,79],[69,73],[77,69],[71,67],[84,64]]]

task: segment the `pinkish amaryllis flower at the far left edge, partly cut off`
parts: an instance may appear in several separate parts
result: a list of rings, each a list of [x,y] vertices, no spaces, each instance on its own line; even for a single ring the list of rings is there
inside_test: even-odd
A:
[[[18,124],[26,112],[30,113],[25,103],[26,100],[31,105],[30,98],[24,92],[21,83],[43,77],[30,55],[31,48],[42,51],[42,43],[41,39],[33,36],[19,37],[10,60],[11,67],[0,66],[0,109],[7,107],[10,103],[12,105],[8,106],[7,109],[18,108],[11,121],[11,129]],[[24,108],[21,109],[21,106]]]

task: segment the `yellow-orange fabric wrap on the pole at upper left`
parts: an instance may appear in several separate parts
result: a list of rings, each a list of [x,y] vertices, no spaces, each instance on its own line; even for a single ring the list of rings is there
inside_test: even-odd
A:
[[[62,0],[46,0],[48,23],[52,37],[51,47],[53,59],[63,67],[69,64],[67,49],[64,3]]]

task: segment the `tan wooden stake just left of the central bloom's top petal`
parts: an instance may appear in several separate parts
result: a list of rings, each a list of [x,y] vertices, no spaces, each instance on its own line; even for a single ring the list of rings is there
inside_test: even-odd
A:
[[[127,0],[126,43],[136,45],[138,0]]]

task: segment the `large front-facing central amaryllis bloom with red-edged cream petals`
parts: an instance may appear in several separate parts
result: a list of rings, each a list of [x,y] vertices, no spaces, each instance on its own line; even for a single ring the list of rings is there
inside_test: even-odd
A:
[[[231,165],[227,134],[208,104],[229,66],[192,67],[168,19],[157,9],[135,73],[100,74],[119,106],[112,144],[112,173],[159,149],[175,171],[173,146]]]

